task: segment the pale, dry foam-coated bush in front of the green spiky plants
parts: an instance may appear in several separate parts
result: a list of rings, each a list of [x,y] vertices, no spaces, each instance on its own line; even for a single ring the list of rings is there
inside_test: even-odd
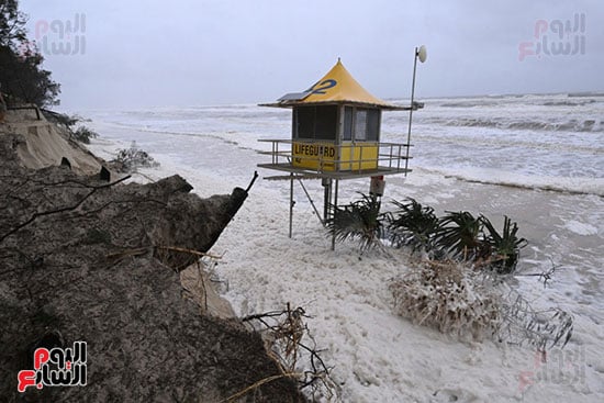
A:
[[[535,310],[507,282],[463,262],[423,261],[389,288],[399,315],[460,339],[491,337],[545,352],[564,347],[572,336],[569,312]]]

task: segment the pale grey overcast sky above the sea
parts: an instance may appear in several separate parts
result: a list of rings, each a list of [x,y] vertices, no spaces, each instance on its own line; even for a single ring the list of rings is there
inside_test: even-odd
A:
[[[374,96],[409,98],[418,45],[428,53],[417,68],[420,99],[604,90],[601,0],[21,0],[20,8],[30,37],[46,41],[45,67],[68,110],[273,101],[305,90],[338,57]],[[58,29],[74,29],[77,14],[79,31],[60,40]],[[539,20],[547,27],[536,35]],[[560,40],[556,20],[573,31]],[[547,55],[545,36],[575,54]],[[76,54],[58,54],[76,41]],[[521,61],[523,43],[533,54]]]

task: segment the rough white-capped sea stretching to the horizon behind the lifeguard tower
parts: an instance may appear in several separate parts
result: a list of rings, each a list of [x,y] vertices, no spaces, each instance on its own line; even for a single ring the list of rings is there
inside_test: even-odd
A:
[[[424,101],[425,108],[413,114],[411,168],[489,183],[604,195],[604,94]],[[169,138],[180,138],[181,145],[216,138],[260,150],[266,146],[258,139],[287,139],[291,133],[289,110],[253,104],[99,111],[92,116],[133,130],[132,139],[143,142],[152,153],[166,150]],[[407,112],[384,112],[382,141],[405,143],[407,122]],[[199,158],[197,148],[186,148],[192,155],[179,152],[178,159],[184,158],[191,167],[203,165],[206,159]]]

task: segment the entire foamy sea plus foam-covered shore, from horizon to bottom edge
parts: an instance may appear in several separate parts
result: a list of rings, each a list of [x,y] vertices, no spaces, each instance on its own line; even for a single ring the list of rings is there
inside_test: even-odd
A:
[[[582,361],[572,362],[582,377],[550,377],[522,390],[518,374],[536,371],[526,347],[460,345],[406,324],[391,312],[388,296],[401,265],[377,253],[361,257],[351,244],[332,251],[299,188],[294,235],[288,238],[287,181],[258,180],[215,245],[214,254],[225,253],[216,276],[230,284],[226,298],[241,315],[304,304],[344,401],[441,401],[434,398],[436,389],[459,401],[603,401],[604,94],[418,101],[425,108],[413,113],[413,171],[385,178],[384,209],[412,197],[437,213],[470,211],[496,226],[503,215],[517,222],[528,246],[512,282],[536,310],[559,307],[574,316],[567,350],[583,351]],[[258,139],[291,136],[289,110],[255,104],[79,114],[100,134],[91,145],[96,154],[111,159],[136,142],[161,164],[143,170],[146,178],[180,173],[202,197],[245,188],[257,164],[270,161],[258,153],[270,145]],[[384,112],[382,141],[405,143],[407,122],[409,112]],[[343,182],[340,202],[367,192],[368,182]],[[320,182],[306,186],[321,205]],[[552,268],[545,288],[535,275]]]

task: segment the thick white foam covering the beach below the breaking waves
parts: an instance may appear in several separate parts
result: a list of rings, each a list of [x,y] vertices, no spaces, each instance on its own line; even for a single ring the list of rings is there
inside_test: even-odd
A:
[[[101,157],[136,139],[161,163],[159,170],[145,175],[178,171],[201,195],[247,183],[262,158],[221,138],[153,135],[96,124],[105,138],[92,146]],[[356,198],[355,192],[367,187],[365,180],[346,181],[340,201]],[[309,190],[321,200],[318,183],[310,182]],[[396,316],[388,284],[406,270],[406,258],[396,251],[359,256],[354,244],[332,251],[331,239],[301,190],[297,190],[294,235],[289,239],[284,182],[257,181],[212,250],[224,253],[217,276],[228,283],[224,292],[236,313],[279,310],[287,302],[303,306],[313,317],[309,327],[317,347],[325,349],[323,357],[334,367],[333,378],[347,402],[604,401],[604,304],[599,296],[604,264],[602,198],[469,183],[423,169],[406,180],[387,178],[385,195],[384,205],[390,198],[411,195],[438,212],[469,210],[494,223],[503,214],[517,221],[521,235],[530,242],[521,272],[539,272],[551,262],[558,269],[545,291],[534,277],[518,277],[515,283],[535,307],[572,312],[574,336],[567,347],[552,349],[544,365],[529,347],[460,343]],[[592,228],[578,225],[585,222]],[[579,235],[577,230],[591,234]]]

